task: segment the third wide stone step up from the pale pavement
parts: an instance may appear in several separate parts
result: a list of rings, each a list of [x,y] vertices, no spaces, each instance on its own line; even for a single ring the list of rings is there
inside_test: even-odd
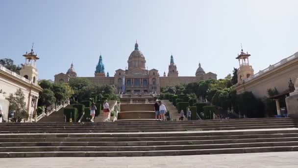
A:
[[[41,141],[41,142],[2,142],[0,147],[28,146],[162,146],[190,144],[232,144],[256,142],[287,142],[298,141],[298,137],[289,138],[259,138],[259,139],[228,139],[228,140],[173,140],[173,141]]]

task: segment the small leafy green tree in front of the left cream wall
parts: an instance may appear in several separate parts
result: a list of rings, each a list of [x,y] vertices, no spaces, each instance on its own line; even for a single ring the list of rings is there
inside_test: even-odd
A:
[[[9,111],[15,111],[13,122],[21,122],[29,117],[25,103],[25,95],[21,89],[18,89],[14,94],[10,94],[8,98]]]

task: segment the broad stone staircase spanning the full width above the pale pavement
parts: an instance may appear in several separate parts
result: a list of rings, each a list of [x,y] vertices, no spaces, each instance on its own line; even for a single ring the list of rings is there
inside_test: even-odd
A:
[[[296,123],[291,118],[0,123],[0,157],[298,151],[298,129],[294,127]]]

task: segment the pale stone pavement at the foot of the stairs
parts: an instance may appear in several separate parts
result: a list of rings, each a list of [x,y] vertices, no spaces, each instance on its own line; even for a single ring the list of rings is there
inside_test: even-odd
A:
[[[0,168],[298,168],[298,152],[157,157],[0,158]]]

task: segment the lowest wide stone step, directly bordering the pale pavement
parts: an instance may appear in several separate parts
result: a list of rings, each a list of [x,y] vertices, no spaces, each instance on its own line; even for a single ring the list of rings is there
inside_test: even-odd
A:
[[[81,151],[81,152],[0,152],[1,158],[9,157],[113,157],[113,156],[174,156],[226,153],[255,153],[298,151],[298,146],[248,147],[223,149],[159,150],[159,151]]]

